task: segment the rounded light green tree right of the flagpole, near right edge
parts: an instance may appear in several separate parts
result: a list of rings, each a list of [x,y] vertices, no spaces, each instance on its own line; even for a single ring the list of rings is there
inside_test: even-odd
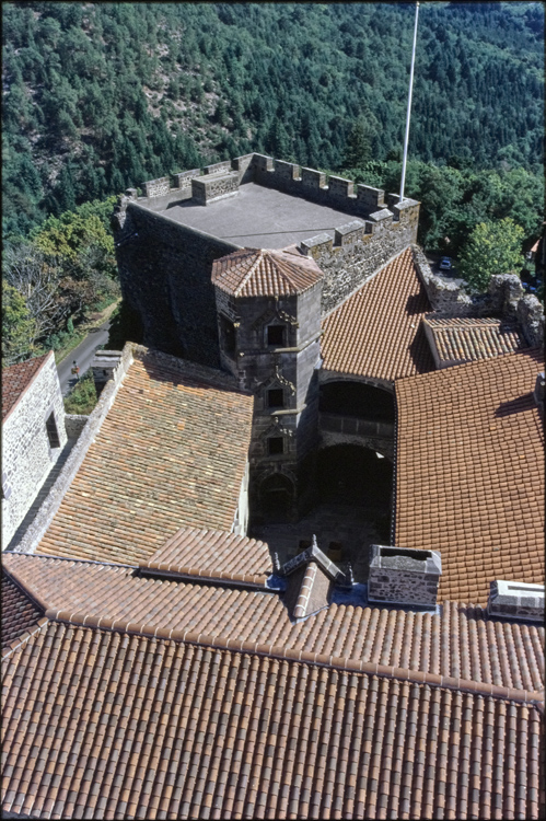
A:
[[[485,291],[495,274],[519,274],[524,231],[510,217],[479,222],[458,258],[462,277],[475,291]]]

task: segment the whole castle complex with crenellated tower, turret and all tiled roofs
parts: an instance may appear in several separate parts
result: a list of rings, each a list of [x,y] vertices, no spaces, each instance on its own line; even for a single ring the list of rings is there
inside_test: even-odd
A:
[[[90,416],[2,372],[4,816],[544,818],[539,303],[434,276],[417,203],[175,182]]]

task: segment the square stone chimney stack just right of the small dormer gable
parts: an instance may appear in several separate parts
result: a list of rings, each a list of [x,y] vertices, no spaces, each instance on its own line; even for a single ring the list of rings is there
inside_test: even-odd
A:
[[[372,544],[368,601],[435,608],[442,562],[438,551]]]

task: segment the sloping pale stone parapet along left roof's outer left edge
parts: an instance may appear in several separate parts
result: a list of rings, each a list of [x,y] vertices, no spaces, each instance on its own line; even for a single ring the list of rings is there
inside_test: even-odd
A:
[[[133,344],[128,343],[123,351],[119,367],[114,373],[114,379],[108,382],[104,389],[101,397],[95,405],[93,412],[89,417],[72,417],[72,419],[85,418],[86,423],[82,426],[80,437],[72,448],[72,451],[67,459],[67,462],[59,473],[56,483],[51,487],[49,495],[42,505],[38,513],[36,514],[33,523],[26,531],[25,535],[18,544],[15,553],[35,553],[44,534],[51,524],[55,514],[57,513],[65,495],[72,484],[72,481],[80,470],[80,466],[85,459],[90,446],[94,442],[96,435],[98,433],[106,414],[114,404],[114,400],[119,390],[119,385],[127,373],[130,363],[133,360]],[[70,417],[67,417],[70,418]],[[80,423],[71,423],[72,430]]]

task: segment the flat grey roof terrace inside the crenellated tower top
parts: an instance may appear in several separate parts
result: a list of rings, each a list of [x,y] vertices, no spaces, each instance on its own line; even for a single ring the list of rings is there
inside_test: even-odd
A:
[[[336,228],[357,219],[256,183],[241,185],[233,196],[206,206],[195,199],[181,199],[178,190],[138,203],[189,228],[235,245],[257,248],[284,248],[318,233],[334,239]]]

